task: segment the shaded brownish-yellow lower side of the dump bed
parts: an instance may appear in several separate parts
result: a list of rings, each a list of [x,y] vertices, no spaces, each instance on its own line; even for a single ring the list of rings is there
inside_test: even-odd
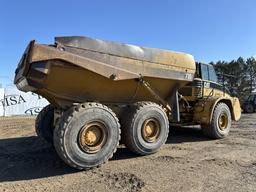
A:
[[[65,108],[72,103],[87,101],[104,104],[129,104],[145,100],[158,102],[139,81],[134,79],[113,81],[89,70],[67,64],[54,63],[48,67],[49,75],[43,81],[47,86],[37,90],[37,93],[55,106]],[[40,81],[36,78],[34,80]],[[145,80],[162,98],[167,98],[175,86],[184,86],[187,83],[153,77],[145,77]]]

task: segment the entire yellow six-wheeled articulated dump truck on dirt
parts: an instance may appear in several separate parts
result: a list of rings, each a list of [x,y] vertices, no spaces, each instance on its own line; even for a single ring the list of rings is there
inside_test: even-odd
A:
[[[223,138],[241,115],[213,66],[179,52],[56,37],[52,45],[31,41],[15,73],[18,89],[50,102],[37,134],[77,169],[106,162],[121,138],[137,154],[155,153],[172,125],[201,125]]]

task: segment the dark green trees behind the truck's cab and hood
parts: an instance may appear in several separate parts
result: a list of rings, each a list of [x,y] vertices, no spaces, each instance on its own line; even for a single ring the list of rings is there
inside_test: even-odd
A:
[[[228,88],[232,96],[243,102],[256,91],[256,59],[239,57],[230,62],[210,62],[216,70],[219,83]]]

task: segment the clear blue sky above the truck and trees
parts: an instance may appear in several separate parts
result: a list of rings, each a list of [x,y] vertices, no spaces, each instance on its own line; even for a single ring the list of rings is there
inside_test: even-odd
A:
[[[255,0],[0,0],[0,84],[12,86],[30,40],[89,36],[192,54],[256,56]]]

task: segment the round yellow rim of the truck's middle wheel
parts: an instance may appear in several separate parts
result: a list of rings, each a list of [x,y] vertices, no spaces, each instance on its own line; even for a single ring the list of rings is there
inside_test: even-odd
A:
[[[148,143],[156,142],[160,134],[160,124],[154,119],[147,119],[142,126],[142,137]]]

